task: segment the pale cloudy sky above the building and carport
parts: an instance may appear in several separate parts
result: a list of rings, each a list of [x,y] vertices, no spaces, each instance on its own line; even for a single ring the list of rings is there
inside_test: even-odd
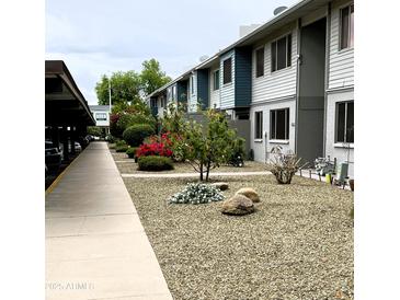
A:
[[[175,78],[239,38],[239,26],[262,24],[275,8],[298,0],[47,0],[46,59],[67,65],[96,104],[95,83],[115,71],[140,72],[156,58]]]

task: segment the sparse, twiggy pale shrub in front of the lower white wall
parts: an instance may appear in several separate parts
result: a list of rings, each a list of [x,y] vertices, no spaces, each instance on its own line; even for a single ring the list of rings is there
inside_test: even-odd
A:
[[[272,148],[273,159],[266,164],[267,170],[275,175],[278,184],[290,184],[293,176],[299,169],[301,159],[294,153],[284,153],[282,147]]]

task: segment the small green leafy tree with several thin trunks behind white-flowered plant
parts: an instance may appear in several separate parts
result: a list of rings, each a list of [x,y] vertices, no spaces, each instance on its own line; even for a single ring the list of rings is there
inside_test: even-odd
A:
[[[207,126],[203,126],[195,120],[186,123],[183,132],[185,142],[185,157],[199,173],[199,180],[209,178],[209,171],[218,168],[221,163],[228,162],[232,155],[232,143],[237,139],[235,130],[228,126],[225,114],[214,109],[205,113]]]

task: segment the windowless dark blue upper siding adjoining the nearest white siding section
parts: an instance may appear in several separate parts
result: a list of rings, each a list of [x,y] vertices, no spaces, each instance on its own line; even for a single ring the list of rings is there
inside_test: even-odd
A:
[[[248,107],[251,103],[251,48],[238,48],[235,53],[235,107]]]

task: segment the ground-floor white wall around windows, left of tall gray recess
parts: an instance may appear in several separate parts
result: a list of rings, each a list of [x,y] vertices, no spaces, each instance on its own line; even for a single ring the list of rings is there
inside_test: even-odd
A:
[[[278,108],[289,108],[289,142],[288,143],[272,143],[268,140],[265,140],[265,132],[267,135],[267,139],[270,139],[270,111],[278,109]],[[255,135],[255,112],[263,112],[263,139],[254,140]],[[265,153],[266,151],[270,153],[271,149],[274,146],[281,146],[283,150],[286,152],[288,150],[295,151],[295,127],[292,126],[296,120],[296,101],[295,99],[285,100],[285,101],[274,101],[271,103],[252,105],[250,108],[250,148],[254,151],[254,160],[260,162],[265,162]],[[271,153],[268,154],[271,158]]]

